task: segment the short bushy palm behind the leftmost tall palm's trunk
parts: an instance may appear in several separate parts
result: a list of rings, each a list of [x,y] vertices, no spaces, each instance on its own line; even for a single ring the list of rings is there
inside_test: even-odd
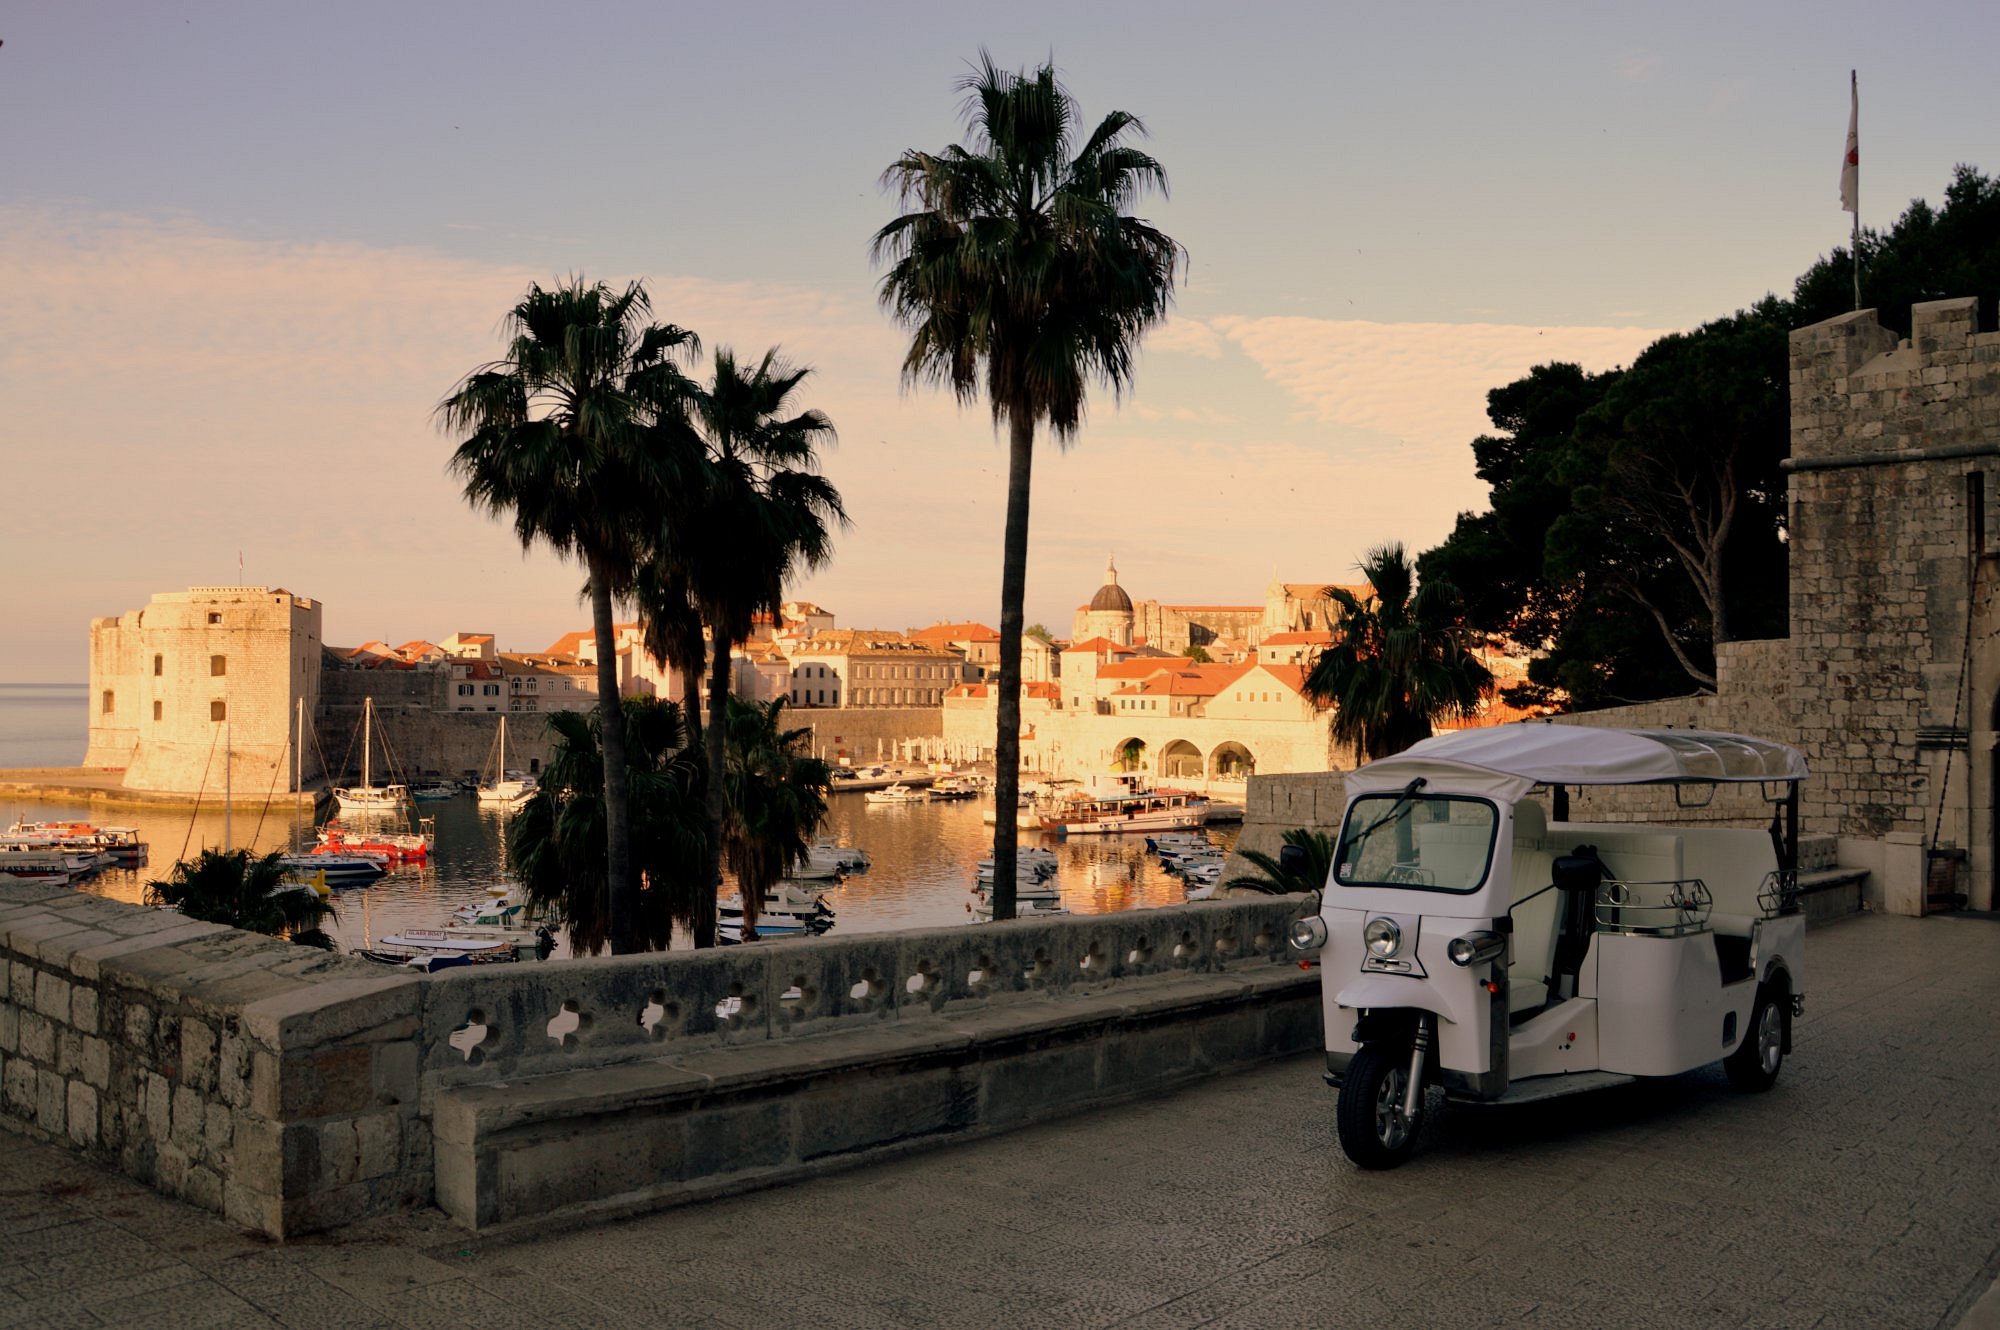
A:
[[[634,910],[642,950],[666,950],[674,924],[696,916],[704,848],[702,762],[688,748],[682,710],[656,698],[624,698],[628,740]],[[570,952],[594,956],[610,944],[606,894],[606,800],[598,712],[550,712],[556,744],[530,798],[508,826],[508,866],[528,910],[570,934]],[[710,892],[710,898],[714,892]]]

